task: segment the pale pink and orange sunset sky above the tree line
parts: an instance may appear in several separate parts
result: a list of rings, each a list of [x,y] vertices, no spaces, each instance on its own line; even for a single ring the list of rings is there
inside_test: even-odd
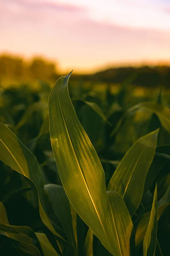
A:
[[[170,64],[170,0],[0,0],[0,53],[62,71]]]

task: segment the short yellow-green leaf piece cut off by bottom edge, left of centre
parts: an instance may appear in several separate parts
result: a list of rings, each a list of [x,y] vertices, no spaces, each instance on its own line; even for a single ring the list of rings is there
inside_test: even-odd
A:
[[[36,233],[36,236],[40,242],[44,256],[59,256],[44,233]]]

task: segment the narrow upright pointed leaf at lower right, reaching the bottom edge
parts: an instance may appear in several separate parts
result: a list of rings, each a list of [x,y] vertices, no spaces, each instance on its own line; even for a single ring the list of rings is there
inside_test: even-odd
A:
[[[154,256],[156,250],[156,242],[157,242],[157,228],[158,228],[158,220],[157,220],[157,185],[155,188],[152,210],[150,213],[150,220],[147,227],[146,234],[144,236],[143,242],[143,252],[144,256]]]

